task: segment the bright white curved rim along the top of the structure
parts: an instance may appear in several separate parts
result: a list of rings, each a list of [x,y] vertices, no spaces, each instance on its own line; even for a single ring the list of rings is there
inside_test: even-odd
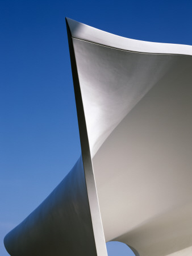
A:
[[[73,19],[66,18],[66,20],[68,21],[72,38],[102,44],[107,47],[123,49],[125,51],[192,55],[192,46],[185,44],[153,43],[123,38],[122,36],[110,34],[83,23],[76,22],[76,20]]]

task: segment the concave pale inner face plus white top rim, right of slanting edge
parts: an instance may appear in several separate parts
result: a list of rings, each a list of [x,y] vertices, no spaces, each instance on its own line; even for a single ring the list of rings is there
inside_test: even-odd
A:
[[[106,241],[190,255],[192,47],[68,24]]]

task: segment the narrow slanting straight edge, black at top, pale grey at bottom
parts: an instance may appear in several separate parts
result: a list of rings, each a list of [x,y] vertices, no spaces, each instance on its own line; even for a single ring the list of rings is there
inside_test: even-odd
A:
[[[93,171],[93,164],[90,154],[89,139],[87,135],[87,127],[85,121],[84,105],[82,102],[82,95],[80,89],[80,81],[77,71],[76,56],[74,53],[74,45],[68,20],[66,20],[66,28],[68,33],[68,43],[70,52],[70,62],[72,66],[72,76],[74,85],[74,94],[76,98],[76,109],[78,126],[80,132],[80,142],[81,142],[81,152],[82,152],[82,162],[84,164],[84,174],[87,189],[87,196],[89,200],[90,214],[91,214],[91,224],[93,227],[95,246],[98,256],[107,256],[105,235],[103,232],[103,225],[101,220],[101,212],[99,209],[97,188],[95,184],[95,177]]]

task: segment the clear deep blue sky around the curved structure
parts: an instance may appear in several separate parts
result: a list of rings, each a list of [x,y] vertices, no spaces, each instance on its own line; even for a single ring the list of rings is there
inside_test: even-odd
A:
[[[192,45],[191,0],[0,1],[1,256],[9,255],[5,234],[81,152],[65,16],[127,38]],[[109,256],[132,255],[115,246]]]

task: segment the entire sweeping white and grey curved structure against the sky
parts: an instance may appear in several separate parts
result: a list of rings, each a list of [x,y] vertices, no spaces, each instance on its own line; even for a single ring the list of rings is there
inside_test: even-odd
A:
[[[28,256],[37,245],[35,255],[73,256],[77,242],[78,255],[106,256],[105,241],[115,240],[140,256],[191,255],[192,47],[122,38],[71,19],[67,27],[82,147],[71,177],[81,177],[65,191],[62,181],[8,234],[7,250]]]

